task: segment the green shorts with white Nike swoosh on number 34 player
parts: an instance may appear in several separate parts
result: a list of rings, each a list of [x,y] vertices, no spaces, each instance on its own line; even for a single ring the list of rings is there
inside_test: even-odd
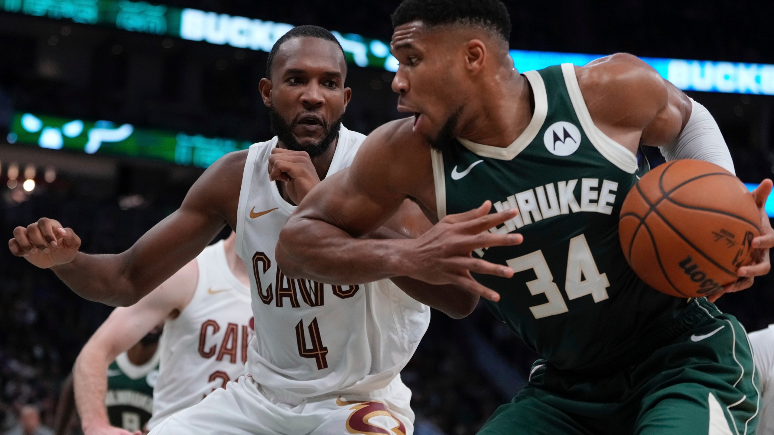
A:
[[[591,376],[536,361],[479,435],[754,434],[760,387],[745,328],[696,302],[706,314],[678,317],[669,325],[676,338],[635,365]]]

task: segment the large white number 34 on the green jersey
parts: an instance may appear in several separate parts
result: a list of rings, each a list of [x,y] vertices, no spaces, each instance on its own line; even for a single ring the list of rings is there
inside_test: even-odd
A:
[[[535,271],[537,279],[526,283],[529,293],[533,296],[544,293],[548,298],[546,303],[529,307],[536,319],[567,313],[567,304],[564,303],[559,287],[553,282],[553,274],[548,268],[546,258],[543,257],[543,251],[537,250],[510,259],[507,263],[514,272],[529,269]],[[597,263],[591,255],[586,237],[579,235],[570,239],[570,250],[567,253],[567,279],[564,282],[567,299],[574,300],[580,296],[591,295],[594,302],[600,302],[608,299],[609,286],[608,276],[604,273],[600,274],[597,269]]]

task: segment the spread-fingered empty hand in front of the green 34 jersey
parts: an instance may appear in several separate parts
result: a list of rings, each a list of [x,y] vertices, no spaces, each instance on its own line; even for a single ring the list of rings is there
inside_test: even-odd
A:
[[[419,238],[407,241],[409,248],[403,259],[409,269],[406,275],[430,284],[456,284],[488,300],[500,300],[497,292],[481,286],[471,272],[510,278],[513,269],[474,258],[472,252],[491,246],[519,245],[524,238],[520,234],[488,232],[518,213],[515,208],[494,214],[489,214],[490,210],[491,201],[486,201],[474,210],[450,214]]]

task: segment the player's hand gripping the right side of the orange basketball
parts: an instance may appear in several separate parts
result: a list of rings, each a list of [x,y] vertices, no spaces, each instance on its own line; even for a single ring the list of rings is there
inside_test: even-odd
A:
[[[768,178],[763,180],[759,187],[752,191],[752,196],[755,197],[755,204],[758,205],[758,210],[761,214],[761,233],[758,237],[752,239],[752,248],[754,249],[752,264],[740,267],[737,271],[739,279],[725,286],[723,292],[710,296],[708,299],[711,302],[716,301],[724,293],[734,293],[748,289],[752,286],[755,276],[769,273],[771,269],[769,249],[774,248],[774,230],[772,230],[772,225],[769,222],[769,214],[765,211],[765,204],[766,200],[769,199],[771,191],[772,180]]]

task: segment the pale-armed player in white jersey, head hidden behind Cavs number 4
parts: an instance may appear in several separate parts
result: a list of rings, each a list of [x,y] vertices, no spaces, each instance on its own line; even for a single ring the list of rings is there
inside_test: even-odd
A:
[[[252,310],[248,275],[234,251],[235,240],[232,232],[132,307],[113,310],[80,351],[73,372],[85,435],[129,435],[108,422],[108,365],[161,322],[159,376],[148,429],[245,374]]]

